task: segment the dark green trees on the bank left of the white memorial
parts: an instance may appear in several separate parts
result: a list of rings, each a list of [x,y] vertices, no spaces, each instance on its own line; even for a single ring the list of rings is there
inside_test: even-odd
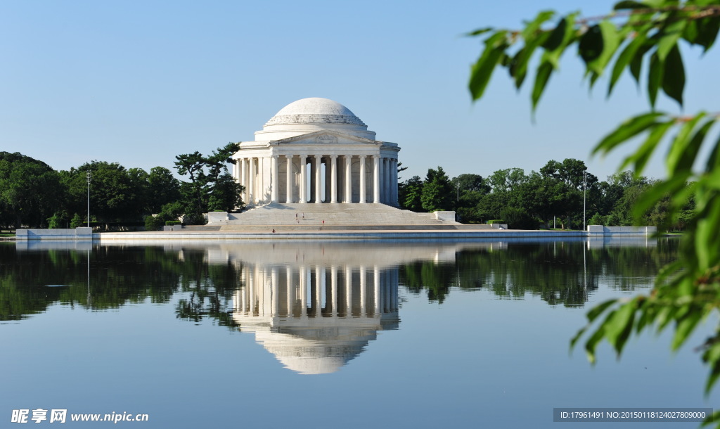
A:
[[[177,155],[175,168],[189,181],[160,166],[148,172],[106,161],[55,171],[22,153],[0,152],[0,226],[154,230],[180,217],[188,224],[204,223],[203,213],[243,207],[242,186],[228,170],[236,150],[236,143],[228,143],[207,156]]]

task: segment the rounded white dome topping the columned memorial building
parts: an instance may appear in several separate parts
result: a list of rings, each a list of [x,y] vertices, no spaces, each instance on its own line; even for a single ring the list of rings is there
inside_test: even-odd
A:
[[[293,101],[271,117],[265,126],[290,124],[348,124],[366,127],[347,107],[337,101],[321,98]]]

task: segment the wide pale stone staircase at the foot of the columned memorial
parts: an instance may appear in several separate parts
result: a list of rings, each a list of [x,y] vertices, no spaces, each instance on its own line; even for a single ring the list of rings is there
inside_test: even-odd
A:
[[[433,213],[415,213],[384,204],[267,204],[230,213],[229,220],[205,225],[220,231],[348,231],[348,230],[465,230],[489,225],[462,225],[438,220]],[[323,222],[324,221],[324,222]],[[212,228],[212,229],[210,229]],[[188,227],[194,230],[194,227]]]

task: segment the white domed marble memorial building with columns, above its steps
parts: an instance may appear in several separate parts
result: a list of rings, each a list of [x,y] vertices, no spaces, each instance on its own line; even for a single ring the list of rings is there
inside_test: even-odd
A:
[[[235,180],[250,206],[376,203],[397,207],[396,143],[375,140],[359,117],[329,99],[283,107],[240,143]]]

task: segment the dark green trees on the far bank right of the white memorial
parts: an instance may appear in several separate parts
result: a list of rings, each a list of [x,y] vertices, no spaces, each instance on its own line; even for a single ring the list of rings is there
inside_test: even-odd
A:
[[[430,168],[425,179],[413,176],[398,189],[400,207],[414,212],[454,210],[463,223],[507,223],[514,229],[586,225],[631,226],[637,223],[633,207],[657,181],[630,171],[606,181],[588,173],[573,158],[548,161],[539,171],[505,168],[490,176],[460,174],[452,179],[442,167]],[[694,212],[694,199],[671,214],[670,194],[642,214],[642,225],[683,230]],[[502,221],[502,222],[500,222]]]

